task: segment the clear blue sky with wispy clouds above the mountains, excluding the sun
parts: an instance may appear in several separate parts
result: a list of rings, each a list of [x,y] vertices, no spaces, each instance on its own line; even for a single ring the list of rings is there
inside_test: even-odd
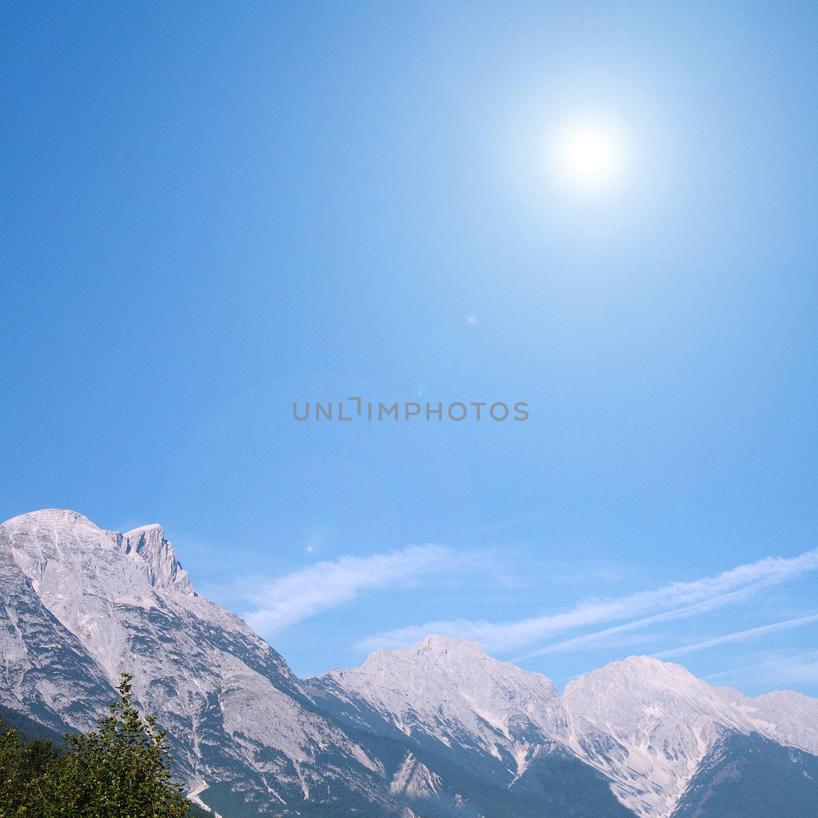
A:
[[[818,694],[818,7],[717,6],[7,4],[0,515],[164,524],[301,675]],[[350,395],[530,417],[292,418]]]

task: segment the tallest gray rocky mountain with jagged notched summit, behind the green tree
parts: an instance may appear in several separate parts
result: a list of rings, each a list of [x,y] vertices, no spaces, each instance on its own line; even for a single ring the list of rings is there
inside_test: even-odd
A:
[[[330,798],[386,807],[379,762],[314,712],[245,622],[196,595],[159,526],[121,534],[38,511],[0,526],[0,560],[2,703],[86,729],[129,672],[205,800],[227,784],[268,814]]]

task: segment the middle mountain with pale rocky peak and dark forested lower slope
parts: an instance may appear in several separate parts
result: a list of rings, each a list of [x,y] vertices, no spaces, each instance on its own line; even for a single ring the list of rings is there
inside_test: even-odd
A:
[[[305,685],[348,730],[389,739],[390,790],[419,814],[632,816],[570,748],[554,683],[474,642],[427,636]]]

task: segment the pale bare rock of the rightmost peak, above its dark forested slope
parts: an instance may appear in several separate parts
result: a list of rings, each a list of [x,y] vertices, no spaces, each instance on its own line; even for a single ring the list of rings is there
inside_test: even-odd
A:
[[[791,697],[802,707],[796,730]],[[645,656],[580,676],[563,703],[580,757],[613,781],[622,803],[640,816],[668,816],[712,748],[726,735],[761,735],[816,752],[815,699],[769,694],[750,699],[713,687],[681,665]]]

